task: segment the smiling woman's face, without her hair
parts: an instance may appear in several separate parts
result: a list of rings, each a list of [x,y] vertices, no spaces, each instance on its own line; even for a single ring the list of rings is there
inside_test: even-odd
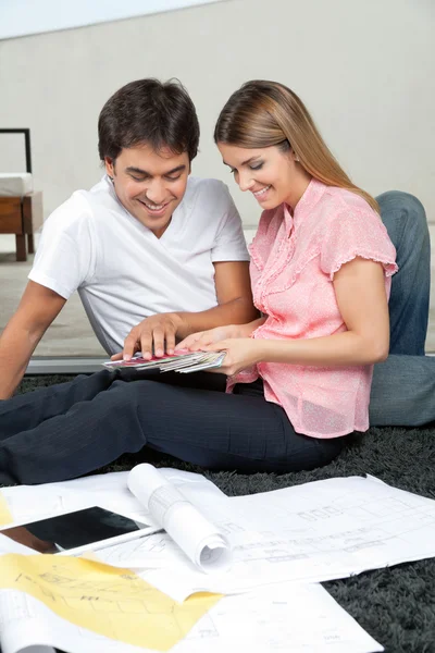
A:
[[[291,149],[248,149],[226,143],[217,143],[217,148],[240,190],[250,190],[262,209],[274,209],[283,202],[295,208],[310,182]]]

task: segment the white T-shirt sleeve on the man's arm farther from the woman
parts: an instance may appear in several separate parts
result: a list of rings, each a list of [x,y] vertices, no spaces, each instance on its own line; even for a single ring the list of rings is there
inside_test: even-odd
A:
[[[28,279],[69,299],[86,282],[91,266],[87,207],[73,196],[46,220]]]

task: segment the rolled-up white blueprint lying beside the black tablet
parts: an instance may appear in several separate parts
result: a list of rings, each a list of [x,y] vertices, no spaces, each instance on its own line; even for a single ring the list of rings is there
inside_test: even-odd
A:
[[[229,566],[231,547],[226,538],[156,467],[137,465],[129,472],[127,483],[194,565],[207,572]]]

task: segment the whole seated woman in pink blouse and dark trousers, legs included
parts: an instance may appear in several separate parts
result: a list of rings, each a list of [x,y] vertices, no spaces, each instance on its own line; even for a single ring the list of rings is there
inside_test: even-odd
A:
[[[368,429],[397,270],[376,201],[350,182],[302,102],[281,84],[245,84],[214,137],[240,188],[263,209],[251,246],[263,317],[179,346],[225,350],[220,371],[229,392],[115,381],[100,393],[111,397],[104,419],[96,419],[97,395],[3,440],[0,469],[14,480],[80,476],[144,446],[213,469],[310,469],[334,459],[345,435]]]

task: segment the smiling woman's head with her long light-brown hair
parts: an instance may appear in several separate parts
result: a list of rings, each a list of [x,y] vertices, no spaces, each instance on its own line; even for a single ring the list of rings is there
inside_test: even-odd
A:
[[[295,206],[314,177],[352,190],[378,211],[373,197],[356,186],[333,157],[300,98],[282,84],[248,82],[233,94],[219,116],[214,139],[240,189],[252,190],[264,209],[268,200],[271,206]]]

